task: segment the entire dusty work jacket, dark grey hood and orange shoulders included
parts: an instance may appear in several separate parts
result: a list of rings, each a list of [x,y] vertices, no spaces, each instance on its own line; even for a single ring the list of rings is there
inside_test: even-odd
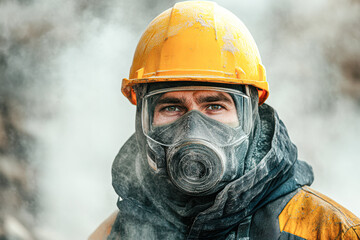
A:
[[[112,169],[119,211],[90,239],[360,239],[360,220],[308,187],[312,169],[276,112],[263,104],[255,120],[244,175],[205,200],[164,191],[132,136]]]

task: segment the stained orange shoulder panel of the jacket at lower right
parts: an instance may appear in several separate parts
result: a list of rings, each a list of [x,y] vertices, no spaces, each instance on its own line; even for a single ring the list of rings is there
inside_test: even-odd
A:
[[[360,219],[309,187],[303,187],[286,204],[279,227],[305,239],[360,239]]]

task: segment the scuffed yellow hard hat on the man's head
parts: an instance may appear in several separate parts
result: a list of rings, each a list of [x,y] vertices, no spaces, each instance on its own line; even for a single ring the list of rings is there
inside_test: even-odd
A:
[[[252,85],[259,104],[269,95],[250,32],[230,11],[208,1],[179,2],[149,24],[121,90],[136,104],[135,84],[170,81]]]

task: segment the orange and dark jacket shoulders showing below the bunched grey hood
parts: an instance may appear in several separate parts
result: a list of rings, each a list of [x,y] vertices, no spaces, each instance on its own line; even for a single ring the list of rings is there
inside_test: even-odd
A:
[[[105,220],[89,240],[107,239],[118,214]],[[233,239],[360,239],[360,220],[323,194],[302,187],[239,224]]]

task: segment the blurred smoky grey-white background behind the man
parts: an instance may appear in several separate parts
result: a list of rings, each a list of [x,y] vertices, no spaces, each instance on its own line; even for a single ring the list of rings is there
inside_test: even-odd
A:
[[[86,239],[116,209],[134,132],[120,91],[176,1],[0,0],[0,239]],[[313,188],[360,216],[360,1],[224,0],[253,34]]]

